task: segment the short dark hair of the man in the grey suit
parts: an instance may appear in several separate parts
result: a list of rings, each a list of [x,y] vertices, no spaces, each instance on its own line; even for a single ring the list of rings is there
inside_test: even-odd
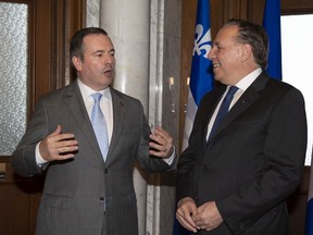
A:
[[[87,35],[91,34],[100,34],[108,36],[108,33],[99,27],[86,27],[82,28],[80,30],[77,30],[71,39],[71,46],[70,46],[71,63],[73,57],[78,57],[82,61],[84,61],[84,52],[85,52],[84,38]]]

